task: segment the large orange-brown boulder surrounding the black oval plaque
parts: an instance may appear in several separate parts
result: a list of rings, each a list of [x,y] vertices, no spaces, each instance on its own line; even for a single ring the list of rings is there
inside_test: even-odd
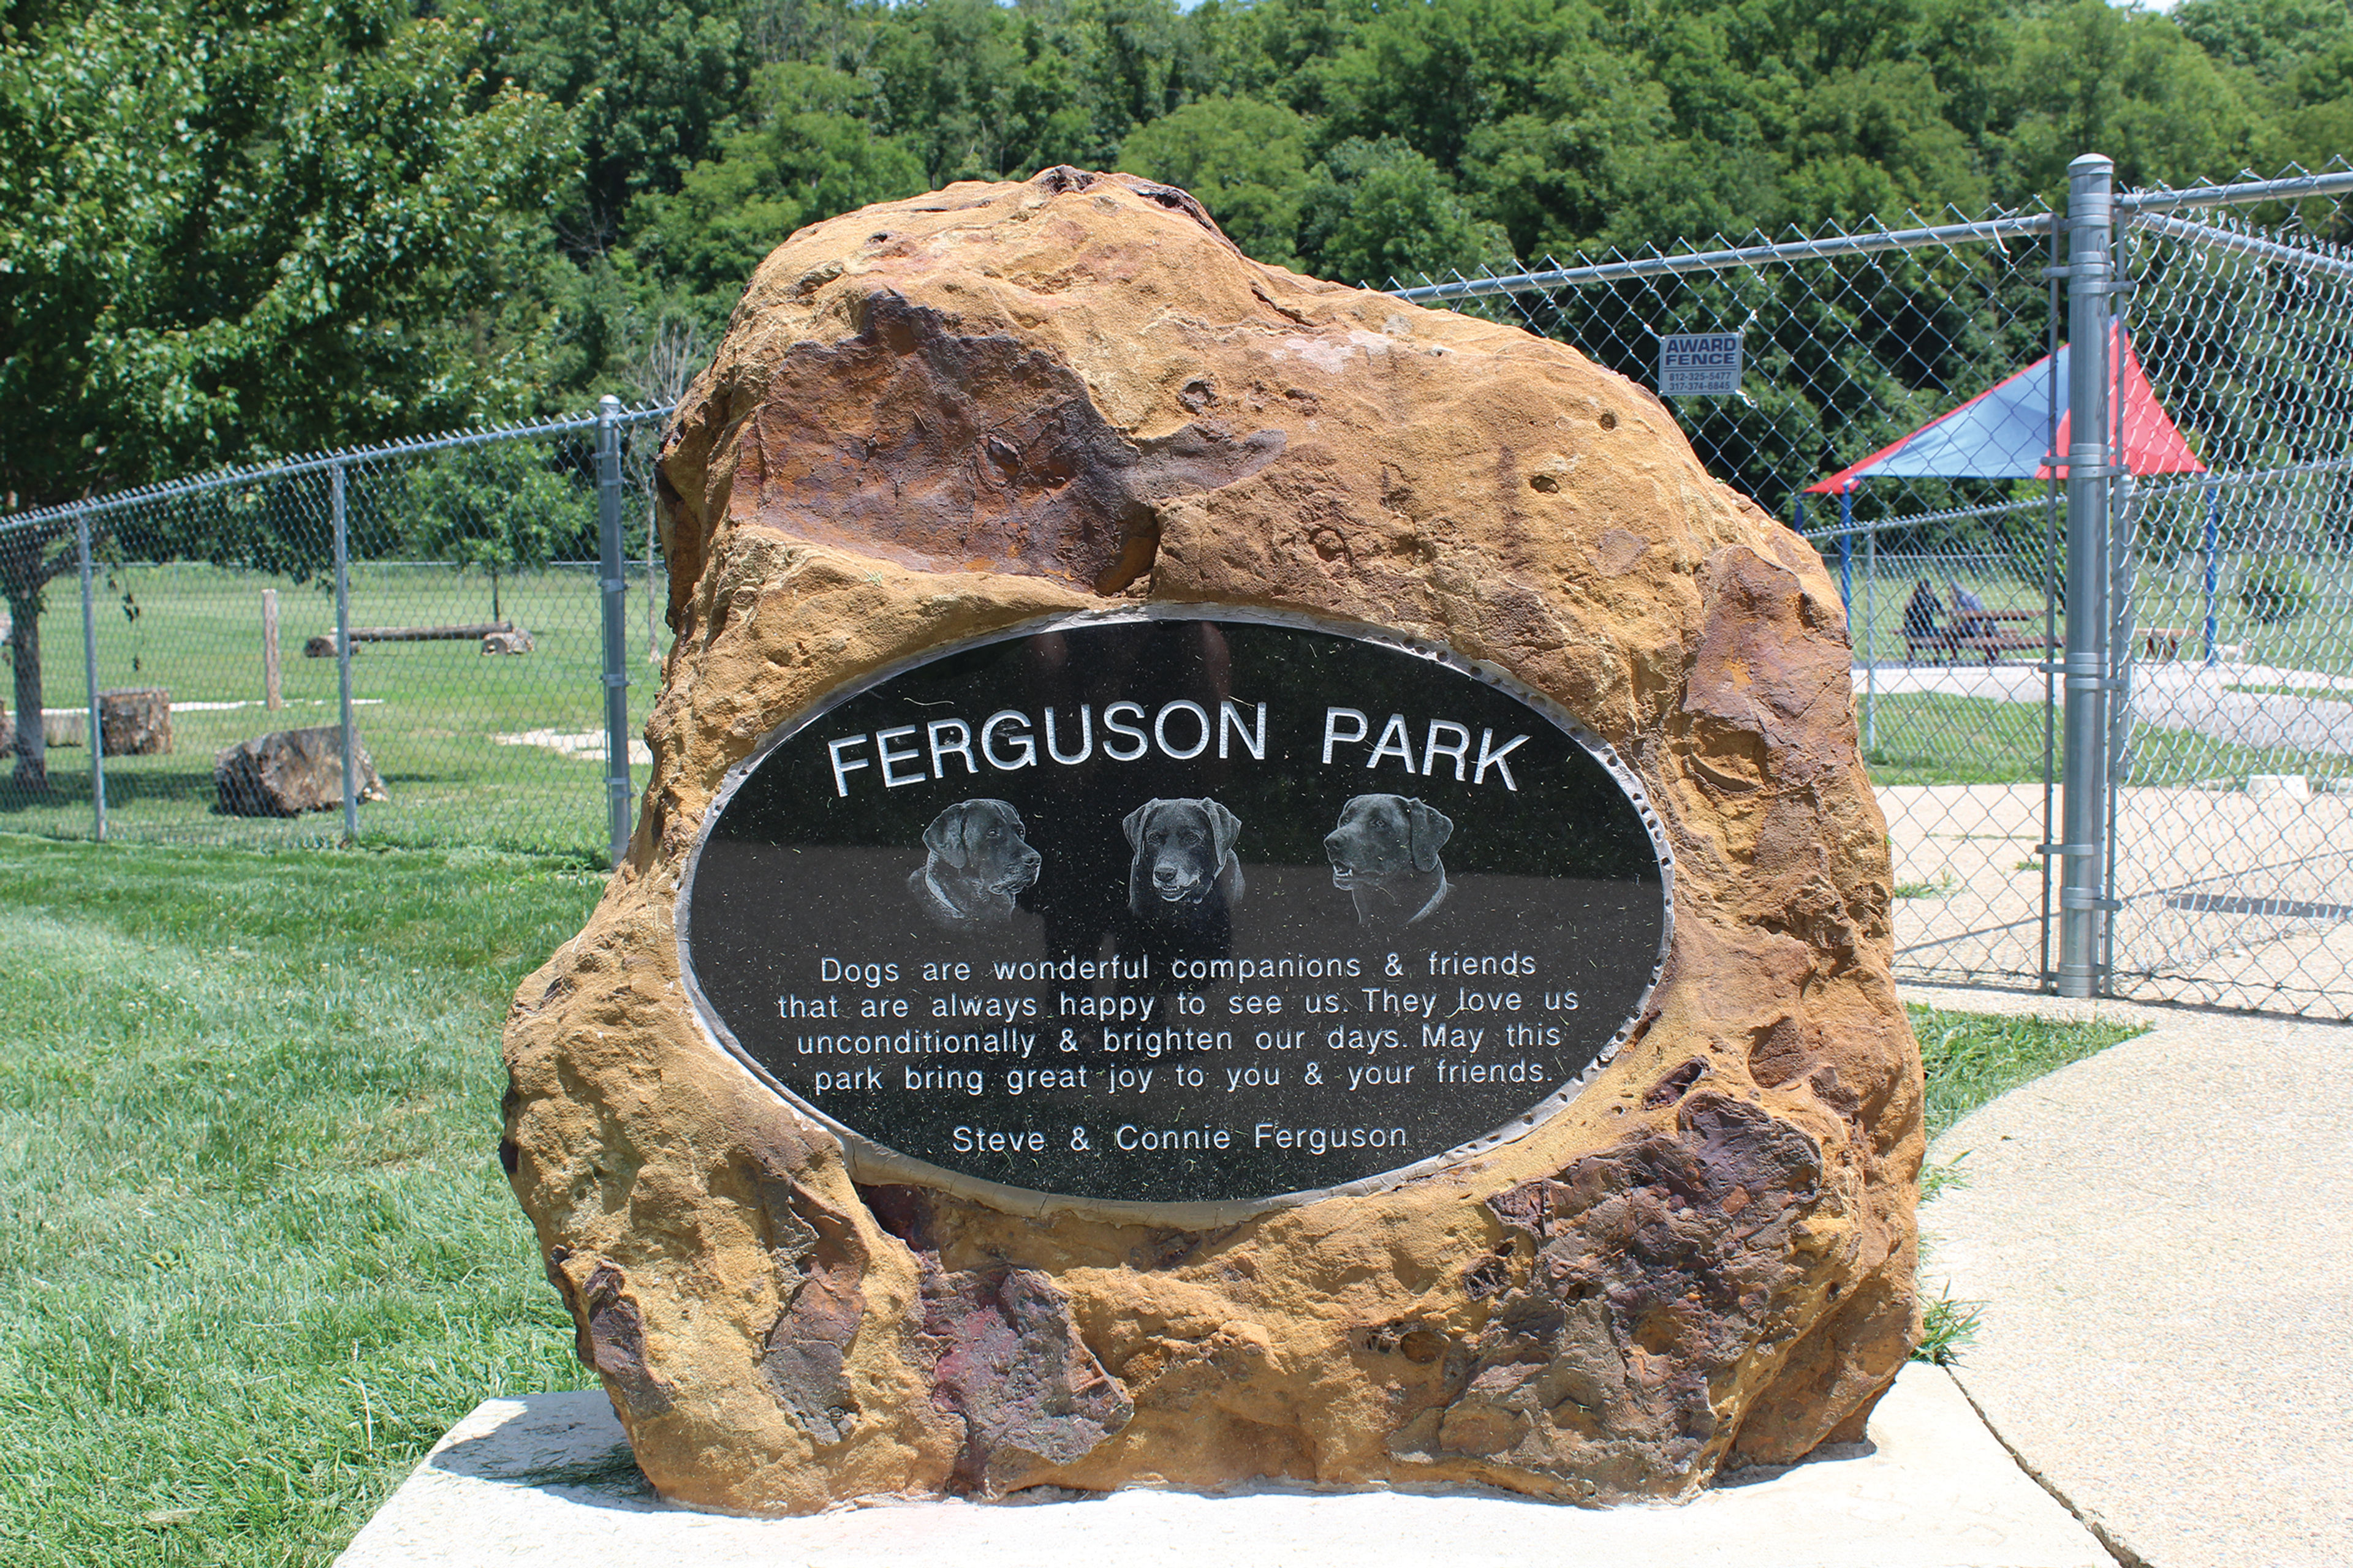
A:
[[[1922,1143],[1845,621],[1649,393],[1049,169],[779,247],[673,421],[661,529],[654,773],[515,997],[501,1159],[664,1495],[1607,1502],[1861,1429],[1915,1328]],[[1438,1175],[1181,1229],[859,1185],[711,1044],[673,900],[727,769],[882,665],[1139,599],[1442,642],[1617,748],[1675,926],[1595,1084]]]

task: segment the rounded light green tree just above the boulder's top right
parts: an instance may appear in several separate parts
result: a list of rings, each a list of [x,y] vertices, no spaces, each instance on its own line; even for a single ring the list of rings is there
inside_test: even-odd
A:
[[[1120,167],[1184,186],[1259,261],[1299,266],[1308,122],[1282,103],[1202,99],[1139,127]]]

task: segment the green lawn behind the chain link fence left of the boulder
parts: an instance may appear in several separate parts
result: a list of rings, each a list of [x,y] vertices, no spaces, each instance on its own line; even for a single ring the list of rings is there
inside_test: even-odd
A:
[[[308,637],[334,632],[334,597],[280,578],[216,567],[127,567],[139,618],[120,592],[99,604],[99,686],[165,686],[174,748],[165,757],[108,757],[108,827],[148,842],[289,846],[341,837],[341,813],[292,823],[214,813],[212,757],[271,729],[336,722],[334,658],[304,658]],[[261,590],[278,588],[285,708],[264,708]],[[49,708],[80,708],[82,607],[66,581],[40,618]],[[489,581],[445,567],[362,562],[351,574],[353,625],[468,625],[489,621]],[[379,642],[353,656],[360,741],[384,773],[384,804],[360,806],[376,844],[492,844],[593,851],[605,842],[605,764],[492,736],[548,729],[602,731],[602,621],[593,569],[506,578],[501,614],[536,651],[482,656],[473,642]],[[631,578],[631,733],[645,724],[659,670],[645,661],[642,574]],[[664,635],[666,637],[666,635]],[[242,703],[242,708],[226,708]],[[0,830],[89,832],[89,752],[49,752],[52,790],[26,795],[0,771]],[[635,769],[642,783],[645,769]]]

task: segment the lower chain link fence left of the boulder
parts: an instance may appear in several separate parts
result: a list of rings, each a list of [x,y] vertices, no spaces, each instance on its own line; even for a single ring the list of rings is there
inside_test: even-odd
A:
[[[659,682],[642,611],[661,602],[664,416],[609,407],[0,520],[0,825],[607,853],[616,780],[626,820],[607,691],[642,769]],[[365,757],[348,792],[346,724]]]

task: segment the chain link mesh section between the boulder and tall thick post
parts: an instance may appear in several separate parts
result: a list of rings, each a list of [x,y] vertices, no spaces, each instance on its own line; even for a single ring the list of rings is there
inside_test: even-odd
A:
[[[1918,978],[2040,985],[2047,969],[2054,496],[2035,477],[1809,487],[2052,353],[2049,263],[2052,214],[1995,212],[1400,289],[1562,339],[1647,388],[1666,334],[1741,336],[1739,393],[1666,402],[1708,470],[1838,576],[1899,966]],[[2005,435],[2005,465],[2033,475],[2047,418]],[[1960,621],[1955,595],[1979,618]]]

